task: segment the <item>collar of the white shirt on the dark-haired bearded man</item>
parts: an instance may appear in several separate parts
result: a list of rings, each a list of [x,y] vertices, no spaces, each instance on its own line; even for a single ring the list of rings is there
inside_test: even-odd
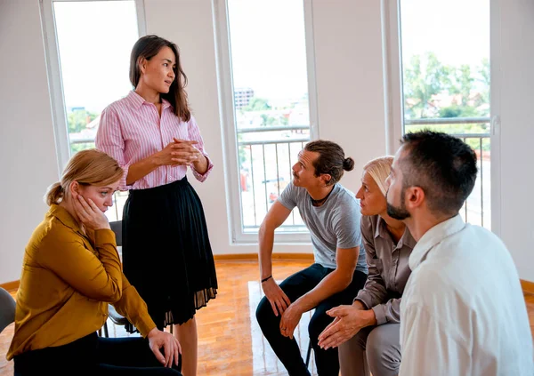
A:
[[[465,222],[457,214],[449,220],[445,220],[425,232],[425,235],[419,239],[414,251],[409,256],[409,268],[414,270],[425,259],[436,244],[441,243],[445,238],[454,235],[465,228]]]

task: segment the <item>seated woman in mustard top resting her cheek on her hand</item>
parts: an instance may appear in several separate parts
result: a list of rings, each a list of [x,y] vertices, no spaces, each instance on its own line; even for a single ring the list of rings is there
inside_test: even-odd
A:
[[[180,344],[156,328],[123,275],[104,215],[123,173],[105,153],[85,150],[49,188],[50,210],[23,260],[7,354],[15,375],[180,375]],[[98,337],[109,303],[145,338]]]

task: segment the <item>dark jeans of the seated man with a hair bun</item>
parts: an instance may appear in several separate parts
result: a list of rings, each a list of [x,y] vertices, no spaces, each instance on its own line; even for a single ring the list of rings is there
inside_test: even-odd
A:
[[[287,298],[292,302],[310,292],[320,281],[328,276],[334,269],[324,268],[320,264],[313,264],[309,268],[295,273],[293,276],[280,284],[280,288],[286,293]],[[338,292],[328,299],[323,300],[315,308],[315,313],[310,320],[308,332],[312,342],[313,353],[315,354],[315,363],[317,372],[320,376],[338,375],[339,360],[337,357],[337,348],[323,350],[318,346],[320,333],[333,321],[333,318],[327,315],[330,308],[343,304],[352,304],[360,289],[365,284],[367,275],[360,271],[355,271],[352,276],[352,283],[343,292]],[[280,362],[284,364],[291,376],[310,375],[296,340],[284,337],[279,330],[280,316],[274,316],[271,303],[263,297],[256,309],[256,318],[262,328],[263,335],[271,344],[274,353],[279,357]]]

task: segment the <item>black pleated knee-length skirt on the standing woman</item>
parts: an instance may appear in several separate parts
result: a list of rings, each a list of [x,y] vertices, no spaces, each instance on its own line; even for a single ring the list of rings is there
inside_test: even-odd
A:
[[[183,324],[217,294],[206,218],[187,177],[130,190],[123,214],[123,269],[161,330]],[[134,332],[133,325],[126,325]]]

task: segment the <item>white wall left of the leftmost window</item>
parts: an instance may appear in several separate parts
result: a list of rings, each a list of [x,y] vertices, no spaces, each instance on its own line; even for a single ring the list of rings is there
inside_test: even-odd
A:
[[[36,0],[0,0],[0,284],[18,280],[24,247],[58,180]]]

